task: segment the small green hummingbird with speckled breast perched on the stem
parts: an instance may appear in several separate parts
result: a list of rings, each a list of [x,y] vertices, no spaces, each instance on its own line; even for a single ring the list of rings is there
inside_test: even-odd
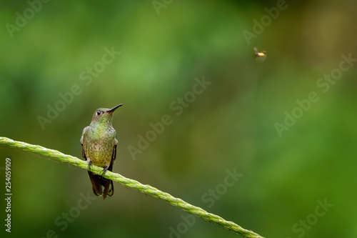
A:
[[[81,136],[82,157],[88,162],[88,167],[92,164],[103,167],[102,174],[97,175],[88,171],[89,178],[93,187],[93,192],[96,196],[103,196],[103,199],[108,195],[114,194],[113,181],[103,177],[106,171],[113,169],[113,163],[116,159],[116,131],[112,126],[113,112],[123,106],[119,104],[112,109],[99,108],[94,111],[91,124],[84,127]],[[104,188],[104,189],[103,189]]]

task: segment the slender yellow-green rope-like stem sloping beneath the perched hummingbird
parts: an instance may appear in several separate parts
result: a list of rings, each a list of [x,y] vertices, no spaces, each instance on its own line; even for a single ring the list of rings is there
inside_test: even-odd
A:
[[[62,154],[61,152],[56,151],[54,149],[47,149],[45,147],[40,147],[39,145],[27,144],[25,142],[16,142],[16,141],[6,138],[6,137],[0,137],[0,144],[5,144],[5,145],[8,145],[9,147],[22,149],[27,152],[34,152],[37,154],[42,154],[46,157],[59,159],[61,162],[74,164],[75,166],[81,167],[82,169],[88,169],[91,172],[94,172],[94,174],[101,175],[101,171],[103,169],[103,168],[97,167],[95,165],[93,165],[91,167],[91,169],[89,169],[87,162],[85,162],[82,159],[78,159],[77,157],[73,157],[71,155]],[[150,185],[141,184],[133,179],[128,179],[126,177],[121,176],[120,174],[116,174],[116,173],[113,173],[110,171],[107,171],[106,174],[104,174],[104,177],[106,179],[111,179],[115,182],[119,182],[120,184],[123,184],[126,187],[136,189],[139,192],[142,192],[144,194],[149,194],[152,197],[156,197],[156,198],[164,200],[165,202],[169,202],[169,204],[171,204],[174,207],[180,207],[181,209],[183,209],[184,211],[186,211],[188,213],[195,214],[196,216],[201,217],[202,219],[205,219],[208,222],[218,224],[218,226],[223,227],[224,229],[233,231],[236,234],[240,234],[243,237],[263,238],[260,235],[254,233],[250,230],[243,229],[242,227],[239,227],[238,224],[236,224],[234,222],[226,221],[222,217],[218,217],[215,214],[206,212],[205,210],[201,209],[201,207],[195,207],[187,202],[184,202],[182,199],[172,197],[170,194],[168,194],[166,192],[161,192],[159,189],[151,187]]]

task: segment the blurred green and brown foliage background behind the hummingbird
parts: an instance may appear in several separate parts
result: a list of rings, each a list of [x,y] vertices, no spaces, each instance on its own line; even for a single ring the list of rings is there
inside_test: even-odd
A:
[[[31,2],[1,4],[2,137],[81,158],[95,109],[123,103],[114,172],[263,237],[357,236],[356,62],[327,91],[317,85],[348,66],[341,55],[357,58],[356,1],[287,1],[275,19],[265,8],[281,1]],[[262,32],[247,41],[243,32],[262,17]],[[254,46],[266,51],[263,63]],[[121,52],[107,65],[105,48]],[[170,105],[195,78],[211,84],[177,116]],[[61,107],[59,94],[74,85],[81,92]],[[311,91],[318,101],[280,137],[275,124]],[[56,104],[61,111],[41,127]],[[165,114],[172,124],[133,159],[129,146]],[[0,157],[3,194],[5,158],[12,162],[8,237],[236,237],[201,219],[187,224],[186,212],[121,184],[78,209],[94,197],[86,171],[4,146]],[[227,169],[243,176],[222,190]],[[318,200],[333,207],[317,216]]]

